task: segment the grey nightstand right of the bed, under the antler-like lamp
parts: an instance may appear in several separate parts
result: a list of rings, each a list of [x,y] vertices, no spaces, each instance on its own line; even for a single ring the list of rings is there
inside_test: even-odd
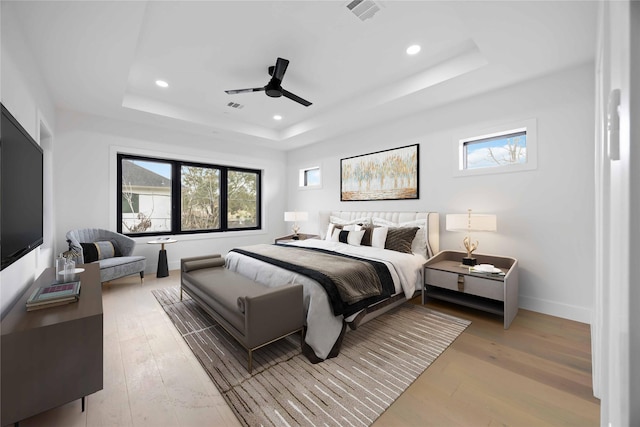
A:
[[[422,303],[436,298],[498,314],[508,329],[518,313],[518,260],[478,255],[478,264],[493,264],[504,275],[473,273],[462,265],[465,252],[442,251],[424,265]]]

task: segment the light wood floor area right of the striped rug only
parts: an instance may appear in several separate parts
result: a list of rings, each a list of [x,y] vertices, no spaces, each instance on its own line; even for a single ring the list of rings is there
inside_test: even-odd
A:
[[[520,309],[504,330],[492,314],[427,305],[472,323],[374,427],[600,424],[589,325]]]

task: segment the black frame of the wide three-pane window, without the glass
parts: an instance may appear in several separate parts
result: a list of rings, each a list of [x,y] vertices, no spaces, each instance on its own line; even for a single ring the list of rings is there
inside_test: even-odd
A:
[[[127,233],[122,227],[122,160],[141,160],[149,162],[164,162],[171,164],[171,230],[149,233]],[[220,227],[204,230],[182,230],[182,194],[181,194],[181,170],[183,166],[212,168],[220,171]],[[228,226],[228,192],[227,174],[229,171],[254,173],[256,175],[256,225],[253,227],[229,227]],[[151,237],[166,235],[193,235],[208,233],[225,233],[235,231],[262,230],[262,170],[245,168],[240,166],[218,165],[202,163],[191,160],[154,157],[140,154],[116,153],[116,229],[118,233],[129,237]]]

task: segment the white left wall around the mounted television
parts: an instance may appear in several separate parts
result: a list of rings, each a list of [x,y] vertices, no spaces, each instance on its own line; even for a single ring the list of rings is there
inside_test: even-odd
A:
[[[24,43],[19,21],[12,11],[11,2],[0,2],[0,98],[2,104],[20,122],[33,139],[40,143],[45,153],[45,165],[50,161],[53,150],[53,129],[55,124],[54,106],[35,58]],[[43,132],[46,129],[46,132]],[[46,142],[41,141],[41,133],[46,134]],[[44,139],[44,135],[43,135]],[[46,167],[46,166],[45,166]],[[46,193],[45,184],[45,229],[44,243],[19,261],[0,272],[0,312],[6,309],[31,285],[35,277],[52,262],[51,230],[52,206]]]

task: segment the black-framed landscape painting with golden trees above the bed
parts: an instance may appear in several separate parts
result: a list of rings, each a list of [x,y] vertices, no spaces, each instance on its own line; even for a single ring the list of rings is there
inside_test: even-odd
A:
[[[418,199],[419,144],[340,160],[340,200]]]

